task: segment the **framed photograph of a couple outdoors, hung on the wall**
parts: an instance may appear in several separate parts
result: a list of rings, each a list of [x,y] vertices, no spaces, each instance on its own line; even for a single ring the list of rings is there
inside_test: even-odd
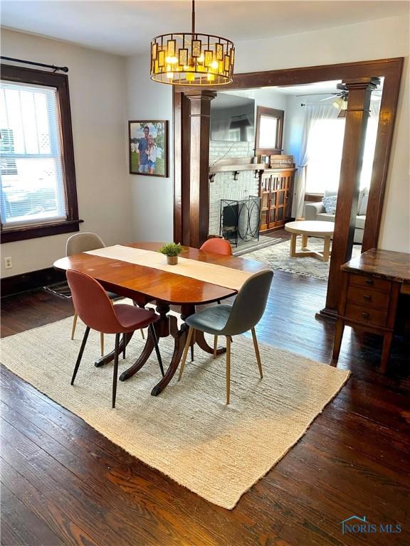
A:
[[[168,176],[168,122],[128,122],[130,174]]]

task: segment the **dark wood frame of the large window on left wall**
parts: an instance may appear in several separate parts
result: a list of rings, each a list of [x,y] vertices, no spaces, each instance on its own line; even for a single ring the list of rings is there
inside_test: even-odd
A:
[[[14,242],[48,235],[58,235],[78,231],[83,222],[78,216],[77,185],[75,183],[75,164],[73,129],[71,126],[70,93],[68,90],[68,76],[32,68],[22,68],[14,65],[1,64],[1,80],[26,83],[27,85],[44,85],[55,87],[60,112],[61,149],[63,151],[64,191],[67,201],[67,218],[55,223],[47,222],[38,225],[19,226],[8,230],[1,225],[1,243]]]

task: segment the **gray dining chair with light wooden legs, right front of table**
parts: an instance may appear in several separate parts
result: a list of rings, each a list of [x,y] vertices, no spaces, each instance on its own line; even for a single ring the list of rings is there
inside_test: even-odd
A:
[[[184,373],[186,355],[195,330],[214,335],[214,358],[216,358],[218,336],[226,336],[226,404],[229,404],[231,392],[231,336],[238,336],[240,333],[251,330],[256,362],[261,379],[263,378],[255,326],[265,311],[272,278],[273,271],[270,269],[253,274],[243,283],[233,305],[207,307],[204,311],[199,311],[199,313],[186,318],[185,322],[189,326],[189,332],[182,355],[178,381],[181,380],[182,373]]]

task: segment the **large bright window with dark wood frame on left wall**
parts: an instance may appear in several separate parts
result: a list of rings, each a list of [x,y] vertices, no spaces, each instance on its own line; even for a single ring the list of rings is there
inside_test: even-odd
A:
[[[2,242],[78,231],[67,76],[2,67]]]

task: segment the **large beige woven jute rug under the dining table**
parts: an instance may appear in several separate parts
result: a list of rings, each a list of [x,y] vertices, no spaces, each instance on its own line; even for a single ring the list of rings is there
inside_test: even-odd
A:
[[[1,361],[137,459],[228,509],[305,434],[349,376],[261,343],[260,380],[252,340],[237,336],[231,405],[225,405],[224,355],[213,360],[196,346],[194,363],[187,363],[181,382],[175,375],[152,397],[160,379],[152,356],[133,378],[119,382],[112,410],[112,364],[93,365],[100,347],[95,331],[90,332],[75,385],[70,385],[84,331],[79,321],[70,341],[71,323],[64,319],[4,338]],[[113,337],[105,336],[106,348],[113,346]],[[143,343],[135,333],[127,359],[120,360],[120,373],[140,355]],[[162,338],[159,345],[167,365],[172,341]]]

